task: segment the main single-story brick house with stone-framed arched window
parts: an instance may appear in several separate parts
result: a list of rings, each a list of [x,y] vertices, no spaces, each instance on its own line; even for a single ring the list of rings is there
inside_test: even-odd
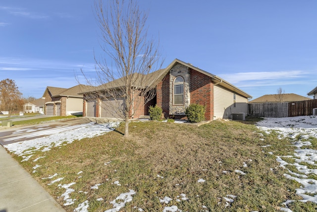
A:
[[[133,118],[148,115],[149,106],[156,104],[162,108],[165,118],[183,118],[185,109],[193,103],[206,106],[206,120],[230,119],[233,113],[247,115],[248,99],[252,96],[191,64],[175,59],[167,68],[150,75],[155,76],[149,86],[156,87],[156,96],[149,104],[134,108]],[[111,108],[100,107],[103,100],[97,100],[97,104],[92,95],[93,92],[84,92],[83,116],[111,116]]]

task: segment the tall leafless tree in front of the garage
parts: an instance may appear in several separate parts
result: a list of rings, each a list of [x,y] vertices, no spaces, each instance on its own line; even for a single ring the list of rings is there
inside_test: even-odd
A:
[[[156,75],[152,70],[162,62],[158,43],[148,39],[147,15],[139,9],[137,1],[99,0],[95,2],[95,10],[105,55],[102,60],[95,55],[97,77],[92,80],[85,76],[95,89],[85,96],[122,118],[124,136],[128,137],[129,119],[134,116],[135,108],[156,94],[151,85]]]

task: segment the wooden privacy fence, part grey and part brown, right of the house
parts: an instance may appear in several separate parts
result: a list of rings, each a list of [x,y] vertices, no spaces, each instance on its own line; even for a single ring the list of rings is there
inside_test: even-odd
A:
[[[255,117],[294,117],[313,115],[317,99],[297,102],[249,103],[248,115]]]

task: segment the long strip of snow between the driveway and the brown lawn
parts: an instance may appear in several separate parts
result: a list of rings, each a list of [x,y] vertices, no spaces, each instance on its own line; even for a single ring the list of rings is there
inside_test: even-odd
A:
[[[24,159],[22,161],[27,161],[30,159],[33,152],[49,151],[53,146],[61,146],[63,143],[71,143],[75,140],[81,140],[83,138],[92,138],[95,136],[100,136],[102,134],[108,133],[114,130],[120,123],[111,122],[105,124],[95,124],[93,122],[81,125],[53,128],[41,131],[40,133],[34,132],[28,135],[23,135],[19,137],[10,138],[3,141],[14,141],[19,139],[25,139],[25,141],[9,143],[4,145],[6,149],[10,152],[15,153],[18,156],[22,156]],[[24,129],[24,131],[27,129]],[[17,130],[20,131],[20,130]],[[16,132],[14,132],[16,133]],[[41,135],[46,135],[42,138],[30,139],[33,137],[38,137]],[[30,150],[31,149],[31,150]],[[25,156],[28,155],[28,156]]]

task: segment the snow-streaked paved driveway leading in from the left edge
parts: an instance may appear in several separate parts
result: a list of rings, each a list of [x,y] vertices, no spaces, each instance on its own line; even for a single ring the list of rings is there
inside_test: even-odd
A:
[[[29,117],[31,118],[31,117]],[[44,117],[43,117],[44,118]],[[36,138],[49,136],[69,130],[70,126],[89,123],[92,120],[88,118],[73,118],[55,122],[48,122],[32,126],[17,126],[1,130],[0,128],[0,144],[26,141]],[[72,129],[74,129],[72,127]]]

